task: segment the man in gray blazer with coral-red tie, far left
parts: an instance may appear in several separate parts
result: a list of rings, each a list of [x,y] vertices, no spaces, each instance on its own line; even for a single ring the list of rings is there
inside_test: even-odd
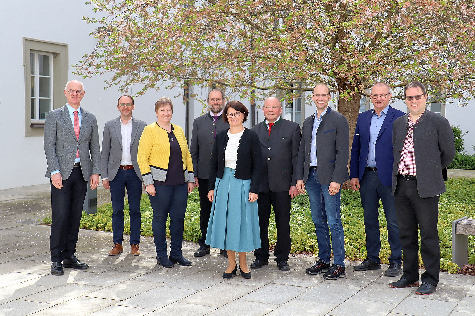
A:
[[[66,83],[67,104],[50,111],[43,137],[51,178],[51,274],[63,275],[63,267],[87,269],[75,256],[87,181],[97,188],[101,150],[95,115],[81,108],[84,85]]]

